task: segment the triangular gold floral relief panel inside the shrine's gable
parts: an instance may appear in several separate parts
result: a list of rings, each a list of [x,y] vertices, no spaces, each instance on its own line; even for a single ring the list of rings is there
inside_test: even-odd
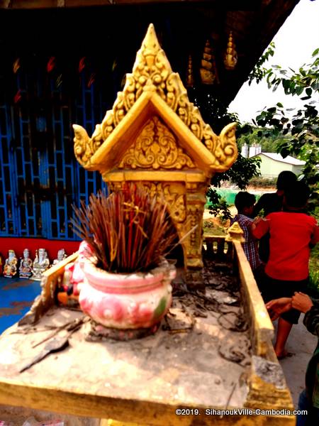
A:
[[[157,170],[194,168],[189,155],[177,146],[174,134],[158,117],[148,120],[134,146],[129,148],[118,168],[152,168]]]

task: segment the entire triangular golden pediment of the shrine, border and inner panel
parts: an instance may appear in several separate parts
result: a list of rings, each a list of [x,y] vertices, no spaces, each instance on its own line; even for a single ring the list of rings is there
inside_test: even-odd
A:
[[[147,123],[157,129],[155,117],[159,127],[162,126],[162,130],[166,127],[172,137],[170,157],[166,160],[159,161],[159,151],[163,154],[167,148],[152,141],[148,154],[152,154],[155,162],[151,165],[151,160],[143,159],[147,148],[144,153],[138,153],[140,160],[133,151],[136,143],[140,143],[138,137],[142,129],[147,132]],[[113,109],[106,112],[91,138],[81,126],[74,125],[74,133],[74,153],[79,163],[101,173],[118,168],[119,160],[123,163],[126,158],[126,163],[129,161],[133,168],[196,167],[210,176],[228,170],[237,157],[235,124],[229,124],[217,136],[211,126],[203,122],[198,109],[189,102],[179,75],[172,72],[152,24],[138,51],[133,72],[126,75],[125,87],[118,93]]]

